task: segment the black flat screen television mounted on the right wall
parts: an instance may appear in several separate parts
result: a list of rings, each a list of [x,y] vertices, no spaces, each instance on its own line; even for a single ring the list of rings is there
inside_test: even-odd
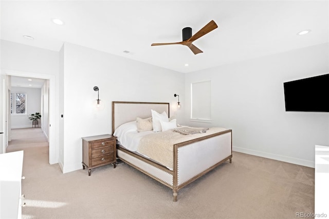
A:
[[[283,83],[286,111],[329,112],[329,74]]]

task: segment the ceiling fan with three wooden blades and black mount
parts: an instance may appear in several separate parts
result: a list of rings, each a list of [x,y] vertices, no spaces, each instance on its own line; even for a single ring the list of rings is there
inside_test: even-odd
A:
[[[210,21],[206,26],[204,26],[202,29],[197,31],[194,35],[192,35],[192,28],[191,27],[185,27],[182,29],[182,42],[177,43],[152,43],[151,46],[161,46],[161,45],[173,45],[173,44],[180,44],[188,46],[194,54],[198,54],[200,52],[203,52],[196,46],[194,46],[192,43],[193,41],[199,39],[201,36],[209,33],[210,31],[216,29],[218,26],[214,21]]]

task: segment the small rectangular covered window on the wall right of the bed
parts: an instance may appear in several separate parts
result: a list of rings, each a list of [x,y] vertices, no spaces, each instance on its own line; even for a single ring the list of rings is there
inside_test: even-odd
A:
[[[211,122],[211,81],[191,83],[191,119]]]

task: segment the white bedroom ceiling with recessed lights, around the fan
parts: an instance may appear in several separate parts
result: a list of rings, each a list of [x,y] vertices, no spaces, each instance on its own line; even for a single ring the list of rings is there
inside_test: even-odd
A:
[[[69,42],[179,72],[328,42],[328,1],[1,1],[1,39],[59,51]],[[64,25],[56,25],[58,18]],[[214,20],[218,28],[182,45]],[[310,33],[297,35],[310,29]],[[34,40],[27,40],[29,35]],[[125,53],[124,51],[130,51]],[[185,66],[185,64],[189,64]]]

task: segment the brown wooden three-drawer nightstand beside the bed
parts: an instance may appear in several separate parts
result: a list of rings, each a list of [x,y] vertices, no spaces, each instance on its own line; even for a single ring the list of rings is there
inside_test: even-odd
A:
[[[113,164],[116,167],[116,140],[113,135],[97,135],[82,138],[82,168],[88,168],[89,176],[92,169]]]

